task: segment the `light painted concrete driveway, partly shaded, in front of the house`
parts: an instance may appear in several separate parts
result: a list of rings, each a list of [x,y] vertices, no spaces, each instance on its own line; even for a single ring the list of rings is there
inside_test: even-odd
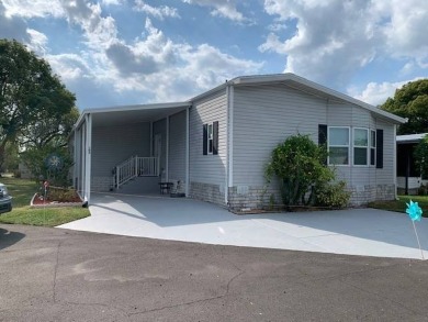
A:
[[[405,213],[374,209],[236,215],[192,199],[93,195],[61,229],[205,244],[421,259]],[[416,222],[428,258],[428,220]]]

